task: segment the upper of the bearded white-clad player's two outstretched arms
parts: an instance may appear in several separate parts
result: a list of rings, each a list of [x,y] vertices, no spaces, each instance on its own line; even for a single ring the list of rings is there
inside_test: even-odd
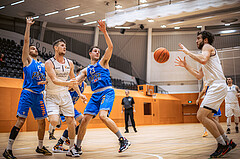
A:
[[[209,44],[205,44],[202,49],[202,54],[194,54],[190,52],[183,44],[179,43],[178,46],[181,48],[179,51],[184,52],[190,56],[193,60],[205,65],[210,58],[213,47]]]

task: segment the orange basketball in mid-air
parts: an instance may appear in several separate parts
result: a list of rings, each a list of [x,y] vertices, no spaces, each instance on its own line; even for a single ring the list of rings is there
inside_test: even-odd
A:
[[[154,51],[154,59],[158,63],[165,63],[169,59],[169,52],[167,49],[160,47]]]

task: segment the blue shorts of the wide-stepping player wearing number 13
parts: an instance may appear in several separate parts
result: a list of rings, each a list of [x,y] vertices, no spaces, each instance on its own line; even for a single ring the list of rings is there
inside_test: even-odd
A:
[[[109,116],[112,110],[114,99],[115,92],[112,88],[106,89],[105,91],[93,93],[83,114],[96,116],[100,110],[108,110]]]

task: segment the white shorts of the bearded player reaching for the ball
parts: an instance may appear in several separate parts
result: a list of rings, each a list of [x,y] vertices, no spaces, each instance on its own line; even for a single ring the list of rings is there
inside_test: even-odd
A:
[[[213,83],[209,86],[200,107],[210,109],[213,113],[217,113],[226,95],[227,85],[225,83]]]

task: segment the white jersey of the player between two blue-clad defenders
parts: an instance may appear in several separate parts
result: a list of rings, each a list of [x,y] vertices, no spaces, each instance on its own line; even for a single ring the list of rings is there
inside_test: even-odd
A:
[[[54,65],[54,71],[56,73],[56,77],[60,80],[67,81],[70,73],[70,65],[68,60],[64,57],[64,64],[59,63],[54,57],[50,58],[51,62]],[[48,74],[46,73],[47,84],[46,84],[46,91],[50,94],[57,94],[60,92],[68,92],[68,87],[66,86],[59,86],[52,82]]]

